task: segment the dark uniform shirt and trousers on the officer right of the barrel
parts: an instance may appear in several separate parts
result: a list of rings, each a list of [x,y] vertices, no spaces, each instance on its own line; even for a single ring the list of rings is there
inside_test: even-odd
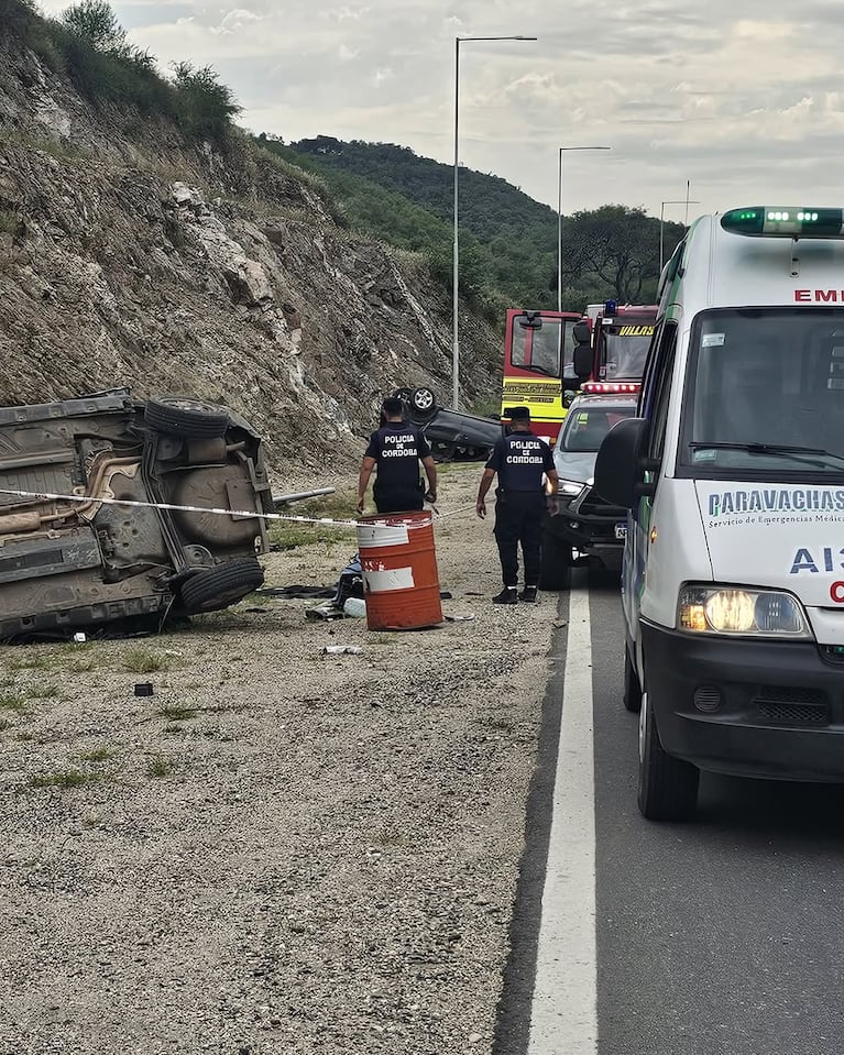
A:
[[[498,475],[495,491],[495,541],[505,586],[518,582],[518,545],[525,582],[539,582],[539,549],[546,509],[542,475],[553,471],[550,447],[533,432],[511,432],[492,449],[486,469]]]

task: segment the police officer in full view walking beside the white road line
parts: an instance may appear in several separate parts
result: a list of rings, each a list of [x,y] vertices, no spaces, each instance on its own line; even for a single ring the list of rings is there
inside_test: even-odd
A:
[[[542,476],[557,494],[557,470],[550,447],[530,431],[528,407],[513,407],[509,411],[512,431],[503,436],[492,449],[490,460],[478,488],[475,510],[482,519],[486,516],[486,492],[498,474],[495,491],[495,541],[498,545],[501,573],[504,589],[492,600],[494,604],[516,604],[536,601],[539,589],[539,548],[541,546],[542,516],[546,509]],[[556,503],[556,498],[551,499]],[[518,546],[525,562],[525,589],[518,590]]]

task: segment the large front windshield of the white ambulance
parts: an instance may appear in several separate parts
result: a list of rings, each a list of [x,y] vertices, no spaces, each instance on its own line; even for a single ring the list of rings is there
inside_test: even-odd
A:
[[[844,473],[844,309],[703,312],[690,354],[684,464]]]

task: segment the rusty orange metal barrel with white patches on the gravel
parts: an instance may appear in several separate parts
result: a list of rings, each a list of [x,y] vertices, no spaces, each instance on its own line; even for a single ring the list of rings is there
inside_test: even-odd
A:
[[[415,630],[442,622],[430,513],[361,517],[358,550],[370,630]]]

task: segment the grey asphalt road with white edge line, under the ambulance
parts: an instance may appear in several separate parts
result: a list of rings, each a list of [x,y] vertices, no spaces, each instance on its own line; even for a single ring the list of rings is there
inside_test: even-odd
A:
[[[615,583],[561,616],[495,1055],[838,1055],[844,789],[703,774],[645,821]]]

